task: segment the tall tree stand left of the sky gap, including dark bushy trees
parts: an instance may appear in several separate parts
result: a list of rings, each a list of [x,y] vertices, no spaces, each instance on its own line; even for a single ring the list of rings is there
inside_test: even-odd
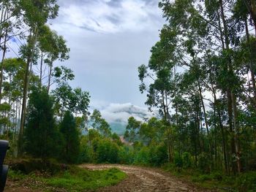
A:
[[[58,11],[57,0],[0,1],[0,137],[12,157],[79,155],[90,96],[71,88],[71,69],[54,66],[69,58],[64,37],[48,26]]]

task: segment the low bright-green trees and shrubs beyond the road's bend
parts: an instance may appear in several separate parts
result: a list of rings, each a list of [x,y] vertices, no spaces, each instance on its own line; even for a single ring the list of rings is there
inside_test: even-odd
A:
[[[93,126],[81,137],[79,162],[145,166],[167,163],[162,120],[151,118],[148,123],[141,123],[131,117],[126,134],[119,137],[111,133],[99,111],[94,110],[90,119]]]

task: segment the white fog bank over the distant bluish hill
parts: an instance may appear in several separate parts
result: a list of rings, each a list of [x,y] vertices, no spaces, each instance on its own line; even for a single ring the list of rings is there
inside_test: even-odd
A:
[[[109,104],[102,109],[99,109],[102,118],[105,118],[110,124],[112,131],[117,134],[124,134],[129,117],[134,117],[137,120],[145,121],[148,118],[158,116],[155,112],[149,112],[145,107],[138,107],[136,105],[126,104]]]

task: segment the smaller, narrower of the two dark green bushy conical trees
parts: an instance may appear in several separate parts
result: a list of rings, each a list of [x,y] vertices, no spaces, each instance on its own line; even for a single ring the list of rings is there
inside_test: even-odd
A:
[[[80,152],[80,138],[75,118],[71,112],[65,112],[60,124],[60,131],[64,138],[63,159],[68,163],[76,163]]]

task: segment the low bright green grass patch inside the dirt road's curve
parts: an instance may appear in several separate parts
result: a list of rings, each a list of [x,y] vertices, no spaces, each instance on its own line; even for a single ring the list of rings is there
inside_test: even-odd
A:
[[[112,168],[99,171],[91,171],[82,169],[78,166],[69,166],[66,171],[50,175],[47,172],[31,172],[30,174],[22,174],[17,171],[10,170],[8,177],[10,180],[26,183],[30,188],[62,188],[66,191],[84,191],[86,189],[96,190],[97,188],[108,185],[115,185],[127,177],[127,174],[119,169]],[[39,185],[34,184],[39,183]]]

